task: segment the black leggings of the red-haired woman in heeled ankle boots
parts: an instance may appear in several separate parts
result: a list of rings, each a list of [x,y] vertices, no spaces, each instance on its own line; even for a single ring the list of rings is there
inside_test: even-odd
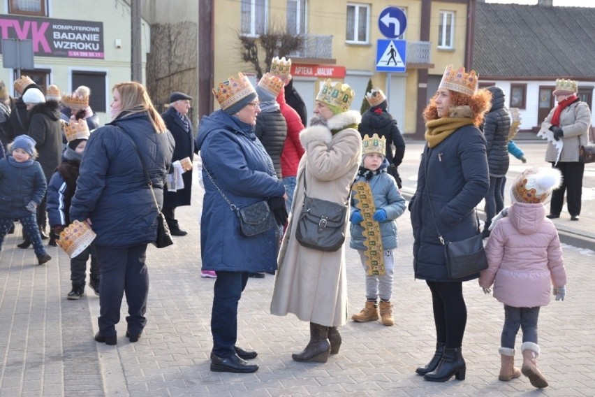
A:
[[[467,325],[467,306],[462,282],[426,281],[432,291],[432,307],[436,324],[436,342],[449,349],[461,347]]]

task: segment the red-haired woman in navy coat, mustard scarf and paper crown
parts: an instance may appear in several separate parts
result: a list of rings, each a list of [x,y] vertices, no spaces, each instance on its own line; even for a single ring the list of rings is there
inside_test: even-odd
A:
[[[475,208],[490,187],[490,175],[485,138],[478,126],[490,109],[492,96],[485,89],[477,89],[477,80],[475,71],[446,67],[438,91],[423,113],[426,146],[416,193],[409,203],[413,270],[432,293],[436,326],[436,353],[416,373],[432,382],[446,382],[453,375],[457,380],[465,378],[461,346],[467,307],[462,282],[478,278],[479,273],[448,277],[444,247],[436,229],[450,241],[479,232]]]

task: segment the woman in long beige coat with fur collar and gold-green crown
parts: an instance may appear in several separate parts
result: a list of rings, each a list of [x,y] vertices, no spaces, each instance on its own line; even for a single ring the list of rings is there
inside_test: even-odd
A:
[[[300,215],[306,195],[341,205],[348,201],[362,152],[357,130],[362,117],[349,110],[353,96],[348,85],[326,80],[316,96],[310,126],[300,133],[306,152],[298,165],[298,185],[271,302],[273,315],[293,313],[310,324],[310,341],[292,355],[295,361],[325,363],[329,354],[339,352],[337,327],[347,322],[345,247],[335,252],[302,247],[295,239],[298,218],[293,215]]]

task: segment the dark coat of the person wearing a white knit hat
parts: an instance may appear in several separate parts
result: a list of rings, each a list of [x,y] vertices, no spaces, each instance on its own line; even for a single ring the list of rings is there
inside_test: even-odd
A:
[[[62,124],[57,101],[38,103],[29,110],[27,135],[35,140],[39,164],[49,182],[62,161]]]

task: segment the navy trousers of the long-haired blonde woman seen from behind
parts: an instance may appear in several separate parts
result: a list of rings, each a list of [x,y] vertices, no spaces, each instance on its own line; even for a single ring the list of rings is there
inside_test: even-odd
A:
[[[147,324],[145,312],[149,296],[149,272],[145,264],[147,244],[126,248],[95,245],[95,252],[101,269],[99,333],[116,335],[115,325],[120,321],[124,293],[128,303],[128,331],[141,333]]]

